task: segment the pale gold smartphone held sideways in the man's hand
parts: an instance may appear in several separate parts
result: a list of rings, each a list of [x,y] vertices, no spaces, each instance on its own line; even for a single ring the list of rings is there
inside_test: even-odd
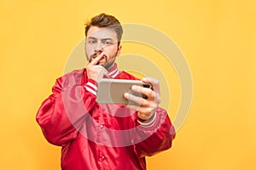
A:
[[[147,99],[147,96],[138,94],[131,90],[131,86],[137,85],[143,88],[152,88],[152,85],[140,80],[108,79],[102,78],[98,81],[96,102],[100,104],[123,104],[136,105],[125,99],[124,94],[130,93]]]

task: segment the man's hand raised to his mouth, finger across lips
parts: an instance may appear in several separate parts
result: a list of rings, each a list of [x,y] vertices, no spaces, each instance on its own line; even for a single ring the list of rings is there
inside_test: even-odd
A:
[[[102,65],[96,65],[104,57],[104,53],[99,54],[87,64],[87,77],[97,81],[102,77],[108,77],[108,71]]]

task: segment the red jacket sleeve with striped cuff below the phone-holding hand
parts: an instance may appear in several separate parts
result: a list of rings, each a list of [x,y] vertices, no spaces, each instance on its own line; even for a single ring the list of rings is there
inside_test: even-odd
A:
[[[157,108],[148,121],[142,122],[137,118],[137,124],[136,138],[141,141],[135,144],[137,156],[153,156],[172,147],[176,133],[165,110]]]

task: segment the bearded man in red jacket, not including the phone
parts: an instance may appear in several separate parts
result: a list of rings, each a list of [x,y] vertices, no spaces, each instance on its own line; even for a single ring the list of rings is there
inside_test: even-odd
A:
[[[123,29],[112,15],[99,14],[85,26],[86,69],[56,80],[53,94],[38,110],[37,122],[51,144],[62,146],[61,168],[67,170],[146,169],[145,156],[172,146],[175,130],[160,104],[160,85],[143,78],[152,89],[133,86],[143,99],[124,94],[137,105],[98,104],[101,78],[137,80],[115,63]]]

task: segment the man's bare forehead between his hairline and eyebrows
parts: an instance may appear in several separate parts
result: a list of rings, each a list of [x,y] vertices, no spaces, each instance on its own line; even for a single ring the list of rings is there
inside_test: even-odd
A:
[[[109,27],[100,28],[97,26],[91,26],[87,32],[87,37],[117,39],[117,34],[113,29]]]

